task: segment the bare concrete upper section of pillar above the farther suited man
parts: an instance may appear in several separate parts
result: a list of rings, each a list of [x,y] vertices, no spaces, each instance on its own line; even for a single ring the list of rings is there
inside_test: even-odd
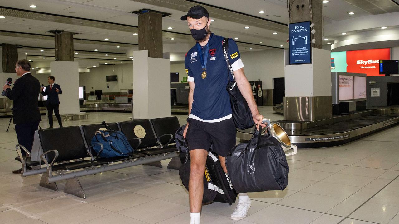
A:
[[[73,33],[52,30],[54,33],[55,61],[73,61]]]

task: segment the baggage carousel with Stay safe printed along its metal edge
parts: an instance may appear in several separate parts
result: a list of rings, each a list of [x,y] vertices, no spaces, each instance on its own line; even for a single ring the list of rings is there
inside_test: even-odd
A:
[[[399,108],[370,109],[315,122],[279,120],[275,123],[298,148],[332,147],[399,124]],[[237,138],[241,141],[251,139],[252,135],[253,128],[237,130]]]

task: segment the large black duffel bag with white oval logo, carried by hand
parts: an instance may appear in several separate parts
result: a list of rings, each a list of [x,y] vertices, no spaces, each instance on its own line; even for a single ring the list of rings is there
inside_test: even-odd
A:
[[[248,143],[236,145],[226,156],[226,167],[237,193],[284,190],[288,163],[279,141],[254,131]]]

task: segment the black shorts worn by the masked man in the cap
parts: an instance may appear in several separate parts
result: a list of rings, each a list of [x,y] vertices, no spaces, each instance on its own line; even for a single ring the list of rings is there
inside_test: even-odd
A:
[[[186,140],[189,151],[193,149],[209,151],[212,144],[213,152],[226,157],[235,146],[237,130],[233,118],[214,123],[187,118],[187,122]]]

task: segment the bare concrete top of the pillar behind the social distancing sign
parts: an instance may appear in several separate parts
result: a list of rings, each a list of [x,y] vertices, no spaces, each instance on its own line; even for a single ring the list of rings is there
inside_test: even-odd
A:
[[[316,39],[316,43],[312,47],[322,49],[323,31],[322,31],[322,0],[289,0],[290,23],[311,21],[314,23],[312,29],[316,33],[312,34],[312,39]],[[312,12],[312,13],[310,13]]]

